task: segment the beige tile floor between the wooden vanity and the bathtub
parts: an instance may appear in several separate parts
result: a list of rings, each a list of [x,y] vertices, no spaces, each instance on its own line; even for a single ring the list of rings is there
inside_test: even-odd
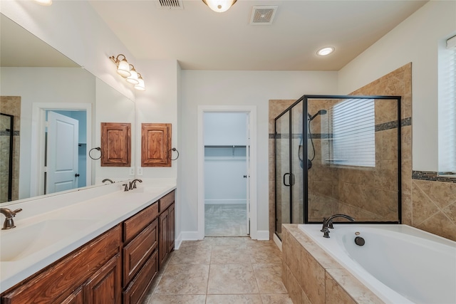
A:
[[[143,304],[291,304],[273,241],[207,237],[171,253]]]

